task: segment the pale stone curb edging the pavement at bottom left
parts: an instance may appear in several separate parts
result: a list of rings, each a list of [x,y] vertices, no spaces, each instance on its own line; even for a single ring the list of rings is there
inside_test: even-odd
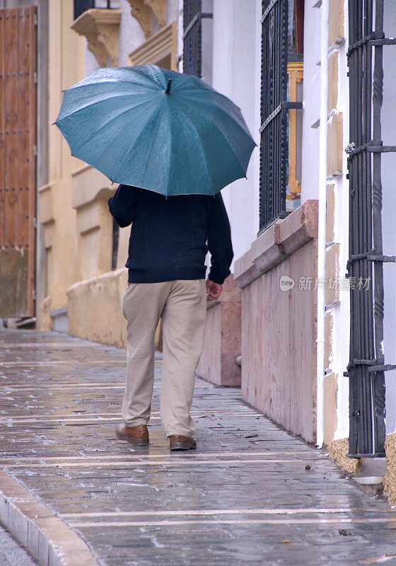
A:
[[[39,566],[99,566],[75,531],[1,469],[0,524]]]

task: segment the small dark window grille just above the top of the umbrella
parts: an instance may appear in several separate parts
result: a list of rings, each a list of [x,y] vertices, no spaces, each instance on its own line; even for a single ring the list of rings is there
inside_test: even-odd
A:
[[[202,0],[183,2],[183,72],[202,77],[202,18],[213,13],[202,12]]]

